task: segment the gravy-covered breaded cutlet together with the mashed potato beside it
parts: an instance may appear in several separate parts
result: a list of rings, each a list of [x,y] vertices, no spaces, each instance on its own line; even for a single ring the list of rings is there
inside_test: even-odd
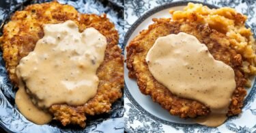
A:
[[[126,47],[128,76],[171,115],[221,125],[241,113],[244,87],[255,75],[255,39],[246,16],[195,3],[170,13],[172,18],[154,18]]]

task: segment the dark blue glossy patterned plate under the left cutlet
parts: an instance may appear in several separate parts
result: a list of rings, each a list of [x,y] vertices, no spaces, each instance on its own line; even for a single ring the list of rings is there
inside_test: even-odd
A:
[[[117,0],[119,1],[119,0]],[[44,3],[45,0],[5,0],[0,1],[0,23],[8,21],[8,18],[16,10],[24,8],[31,3]],[[112,1],[113,2],[113,1]],[[100,0],[78,0],[68,1],[59,0],[59,3],[66,3],[74,6],[81,13],[106,13],[107,17],[115,23],[119,31],[119,38],[123,38],[123,8],[109,1]],[[2,27],[2,26],[1,26]],[[1,30],[2,31],[2,30]],[[119,46],[122,47],[122,40],[119,40]],[[5,63],[0,53],[0,127],[6,132],[124,132],[124,99],[117,100],[113,105],[110,113],[96,115],[87,118],[86,128],[68,125],[63,127],[59,122],[52,121],[46,125],[36,125],[25,119],[15,105],[15,91],[8,78],[5,70]],[[1,130],[0,130],[1,132]]]

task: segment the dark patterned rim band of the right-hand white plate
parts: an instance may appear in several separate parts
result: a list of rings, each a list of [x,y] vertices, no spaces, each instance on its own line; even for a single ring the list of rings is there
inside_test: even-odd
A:
[[[145,14],[143,14],[141,17],[139,17],[133,24],[132,26],[128,29],[128,31],[126,31],[126,35],[124,36],[124,50],[126,50],[126,46],[128,45],[128,40],[130,39],[130,36],[132,35],[132,33],[134,32],[135,29],[137,29],[137,27],[139,27],[139,25],[148,17],[152,16],[152,14],[156,14],[157,12],[160,12],[162,10],[166,10],[168,8],[173,8],[175,6],[182,6],[182,5],[187,5],[188,3],[201,3],[203,5],[208,6],[208,8],[220,8],[217,5],[213,5],[207,2],[201,2],[201,1],[193,1],[193,0],[188,0],[188,1],[171,1],[171,2],[167,2],[164,5],[158,5],[155,8],[152,8],[151,10],[148,10],[147,12],[145,12]],[[246,25],[246,27],[248,27],[248,25]],[[255,37],[255,35],[254,35]],[[125,63],[125,67],[126,67],[126,63]],[[256,80],[255,82],[252,84],[252,88],[250,93],[248,93],[248,95],[246,96],[246,98],[244,99],[244,104],[242,106],[242,108],[244,108],[244,106],[246,106],[248,104],[248,102],[253,98],[253,95],[256,94]],[[139,105],[139,103],[133,98],[132,94],[130,93],[126,82],[124,82],[124,93],[126,95],[126,97],[128,98],[128,100],[130,100],[130,102],[138,109],[140,110],[142,113],[144,113],[145,115],[147,115],[148,117],[150,117],[150,119],[153,119],[155,121],[158,121],[162,124],[165,125],[171,125],[171,126],[179,126],[182,128],[188,128],[188,127],[193,127],[193,128],[209,128],[209,129],[216,129],[216,128],[211,128],[205,125],[200,125],[198,123],[175,123],[172,121],[167,121],[165,119],[161,119],[159,117],[156,117],[155,115],[149,113],[147,110],[145,110],[141,105]],[[153,101],[152,101],[153,102]],[[228,117],[228,119],[225,121],[225,123],[227,123],[227,121],[230,121],[231,119],[236,119],[236,117],[238,117],[238,115],[233,115],[231,117]],[[223,123],[223,124],[225,124]],[[223,125],[222,124],[222,125]],[[130,130],[125,126],[124,129],[127,132],[130,132]]]

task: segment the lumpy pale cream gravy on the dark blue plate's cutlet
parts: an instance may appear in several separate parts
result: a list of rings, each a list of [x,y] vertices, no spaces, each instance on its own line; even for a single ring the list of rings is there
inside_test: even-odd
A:
[[[40,108],[63,103],[85,104],[96,95],[99,83],[96,71],[104,60],[105,49],[106,38],[94,28],[79,33],[71,20],[44,25],[44,38],[38,40],[33,52],[23,57],[16,68],[18,86],[26,86],[27,92],[33,95],[33,104]],[[19,89],[16,104],[30,118],[42,110],[23,109],[36,108],[26,94],[25,89]],[[39,123],[37,119],[29,120]]]

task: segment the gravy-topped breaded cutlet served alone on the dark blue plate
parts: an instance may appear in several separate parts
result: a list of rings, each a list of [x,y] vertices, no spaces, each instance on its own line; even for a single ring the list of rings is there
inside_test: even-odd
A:
[[[118,33],[106,14],[80,14],[57,1],[17,11],[0,38],[15,102],[27,119],[85,127],[122,97]]]

